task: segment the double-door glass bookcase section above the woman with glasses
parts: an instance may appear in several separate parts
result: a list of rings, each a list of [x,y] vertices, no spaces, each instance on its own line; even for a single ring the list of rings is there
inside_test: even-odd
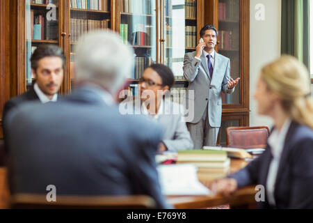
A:
[[[172,69],[175,75],[173,91],[186,89],[188,82],[182,70],[184,54],[195,50],[203,25],[200,20],[203,5],[203,0],[118,1],[116,30],[135,52],[134,74],[128,92],[138,88],[143,70],[153,62],[164,63]],[[138,43],[137,37],[143,43]]]

